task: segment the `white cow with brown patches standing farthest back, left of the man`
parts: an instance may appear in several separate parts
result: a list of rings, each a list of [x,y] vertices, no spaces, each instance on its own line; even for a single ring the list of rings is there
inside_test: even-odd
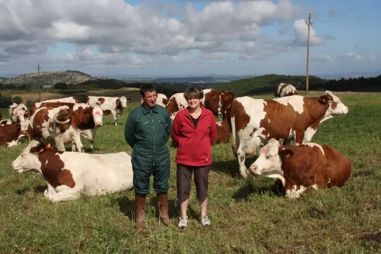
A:
[[[87,96],[86,103],[93,108],[96,105],[100,106],[104,115],[112,114],[115,126],[118,125],[116,122],[117,116],[120,116],[123,112],[119,97]]]

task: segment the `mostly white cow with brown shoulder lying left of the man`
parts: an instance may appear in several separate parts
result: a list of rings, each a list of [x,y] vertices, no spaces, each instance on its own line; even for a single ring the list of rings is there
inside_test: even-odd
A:
[[[12,162],[21,173],[41,174],[47,182],[44,196],[52,202],[77,199],[82,191],[104,195],[134,188],[131,157],[125,152],[85,154],[56,151],[34,140]]]

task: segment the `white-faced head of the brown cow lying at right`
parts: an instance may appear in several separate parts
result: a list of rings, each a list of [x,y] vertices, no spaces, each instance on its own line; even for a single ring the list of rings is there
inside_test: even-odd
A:
[[[250,172],[271,178],[282,177],[282,161],[293,154],[290,150],[280,150],[280,146],[276,139],[270,139],[260,150],[258,159],[251,164]]]

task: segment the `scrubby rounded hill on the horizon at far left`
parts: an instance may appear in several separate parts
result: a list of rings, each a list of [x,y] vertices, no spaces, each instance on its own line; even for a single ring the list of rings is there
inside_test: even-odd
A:
[[[56,83],[66,83],[66,84],[79,84],[89,80],[98,79],[96,77],[92,77],[89,74],[86,74],[77,70],[66,70],[66,71],[42,71],[40,72],[40,83],[43,86],[52,86]],[[13,85],[29,85],[29,84],[37,84],[38,81],[38,73],[26,73],[21,74],[17,77],[13,77],[7,80],[3,80],[2,83],[13,84]]]

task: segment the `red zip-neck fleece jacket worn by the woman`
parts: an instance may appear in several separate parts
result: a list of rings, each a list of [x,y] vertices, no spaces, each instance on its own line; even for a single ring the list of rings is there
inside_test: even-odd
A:
[[[211,165],[211,145],[216,136],[216,120],[212,111],[201,106],[196,129],[188,108],[177,112],[171,131],[173,144],[177,147],[176,163],[189,166]]]

